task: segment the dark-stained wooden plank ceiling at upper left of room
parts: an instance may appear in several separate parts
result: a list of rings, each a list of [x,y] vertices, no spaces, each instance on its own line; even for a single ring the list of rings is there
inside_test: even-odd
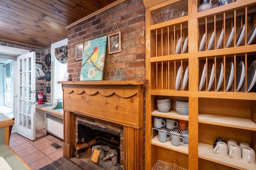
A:
[[[66,26],[116,0],[0,0],[0,40],[47,48]]]

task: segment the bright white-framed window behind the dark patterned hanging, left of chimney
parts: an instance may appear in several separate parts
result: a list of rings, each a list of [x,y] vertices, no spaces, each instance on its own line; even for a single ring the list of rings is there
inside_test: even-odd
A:
[[[55,99],[63,99],[62,84],[58,81],[63,81],[64,74],[68,71],[68,64],[60,63],[54,54],[54,49],[68,45],[68,39],[58,41],[51,45],[51,70],[52,70],[52,83],[51,83],[51,103],[56,102]]]

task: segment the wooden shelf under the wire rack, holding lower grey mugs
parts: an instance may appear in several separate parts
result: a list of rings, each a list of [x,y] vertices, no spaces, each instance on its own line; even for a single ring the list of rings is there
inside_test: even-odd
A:
[[[158,147],[163,147],[163,148],[166,148],[166,149],[171,149],[171,150],[175,150],[177,152],[181,152],[181,153],[184,153],[184,154],[188,154],[188,144],[186,143],[182,143],[180,144],[180,146],[174,146],[172,145],[171,143],[171,140],[168,139],[166,142],[160,142],[158,140],[158,135],[156,135],[152,140],[151,140],[151,144],[152,145],[156,145]]]

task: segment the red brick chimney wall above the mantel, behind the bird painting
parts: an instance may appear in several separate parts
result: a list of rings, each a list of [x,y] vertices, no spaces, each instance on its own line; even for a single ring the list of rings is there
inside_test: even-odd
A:
[[[126,80],[145,79],[145,8],[142,0],[126,0],[96,16],[68,28],[68,72],[81,71],[82,60],[76,61],[76,45],[109,35],[114,24],[122,34],[120,53],[108,54],[103,80],[109,80],[111,68],[124,68]],[[115,26],[112,33],[118,31]],[[79,38],[82,36],[82,39]]]

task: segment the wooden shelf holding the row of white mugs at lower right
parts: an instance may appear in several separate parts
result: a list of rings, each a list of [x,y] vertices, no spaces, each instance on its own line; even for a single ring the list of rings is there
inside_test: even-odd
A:
[[[198,143],[198,157],[206,160],[210,160],[212,162],[217,162],[219,164],[223,164],[226,166],[230,166],[237,169],[248,169],[255,170],[256,164],[249,164],[245,162],[243,159],[236,160],[230,158],[230,156],[221,156],[215,153],[212,145],[208,145],[205,143]]]

